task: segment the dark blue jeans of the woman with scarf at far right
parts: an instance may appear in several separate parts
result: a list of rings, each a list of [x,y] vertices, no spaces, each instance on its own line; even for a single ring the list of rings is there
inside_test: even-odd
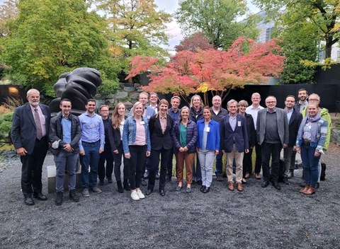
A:
[[[318,164],[320,156],[314,156],[315,147],[307,146],[302,143],[301,145],[301,159],[303,164],[303,175],[305,183],[311,187],[317,185],[319,178]]]

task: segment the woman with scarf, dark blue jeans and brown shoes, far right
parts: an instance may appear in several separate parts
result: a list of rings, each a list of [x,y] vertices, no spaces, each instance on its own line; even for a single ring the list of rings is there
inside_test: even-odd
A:
[[[316,103],[310,103],[307,110],[308,115],[302,120],[297,133],[295,150],[301,153],[306,183],[300,192],[312,195],[319,177],[317,165],[327,137],[327,121],[320,117],[319,106]]]

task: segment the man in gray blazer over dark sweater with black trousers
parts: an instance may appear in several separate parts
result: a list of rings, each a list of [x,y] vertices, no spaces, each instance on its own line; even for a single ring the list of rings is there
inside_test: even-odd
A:
[[[286,148],[289,141],[288,119],[285,110],[276,108],[276,98],[266,98],[265,109],[259,110],[256,122],[257,142],[261,144],[263,181],[261,187],[267,187],[269,180],[280,190],[278,185],[280,151]],[[269,168],[269,161],[271,170]]]

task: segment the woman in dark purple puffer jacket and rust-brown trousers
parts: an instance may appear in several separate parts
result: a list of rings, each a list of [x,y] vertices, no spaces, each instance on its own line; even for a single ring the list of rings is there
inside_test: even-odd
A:
[[[190,109],[187,106],[181,108],[179,120],[174,125],[173,139],[175,145],[176,160],[179,169],[177,180],[179,185],[176,191],[181,191],[183,187],[183,167],[186,162],[186,192],[191,192],[193,180],[193,162],[195,161],[197,128],[196,123],[189,119]]]

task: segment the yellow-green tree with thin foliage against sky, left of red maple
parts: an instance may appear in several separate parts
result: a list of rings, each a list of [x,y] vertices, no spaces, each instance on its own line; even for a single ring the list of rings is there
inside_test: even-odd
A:
[[[107,16],[111,52],[122,62],[125,73],[132,57],[168,55],[160,45],[168,42],[165,30],[171,16],[156,11],[154,0],[96,0],[95,4]]]

